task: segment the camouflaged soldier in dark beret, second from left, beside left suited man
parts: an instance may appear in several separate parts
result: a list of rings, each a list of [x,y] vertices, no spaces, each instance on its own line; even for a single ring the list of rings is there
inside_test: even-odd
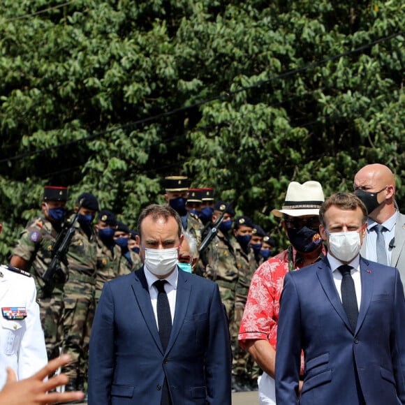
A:
[[[79,205],[81,207],[79,209]],[[70,380],[66,390],[83,390],[87,380],[89,336],[94,318],[97,242],[92,222],[98,201],[91,193],[82,193],[75,210],[79,210],[75,235],[69,245],[68,281],[64,286],[63,353],[72,361],[62,371]]]

